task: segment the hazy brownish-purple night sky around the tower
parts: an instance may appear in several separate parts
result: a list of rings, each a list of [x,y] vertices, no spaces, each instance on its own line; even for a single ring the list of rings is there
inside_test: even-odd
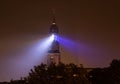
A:
[[[42,62],[25,53],[48,35],[53,8],[61,38],[75,44],[66,44],[71,49],[61,46],[63,63],[107,67],[120,59],[119,1],[1,0],[0,81],[24,77]]]

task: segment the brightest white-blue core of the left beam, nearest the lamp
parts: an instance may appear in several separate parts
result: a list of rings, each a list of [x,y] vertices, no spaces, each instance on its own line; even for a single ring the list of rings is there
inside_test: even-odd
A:
[[[32,56],[35,57],[44,57],[46,53],[48,52],[50,46],[52,45],[52,42],[55,39],[55,35],[51,34],[49,37],[44,38],[40,41],[37,41],[34,43],[28,53]],[[40,58],[39,58],[40,60]]]

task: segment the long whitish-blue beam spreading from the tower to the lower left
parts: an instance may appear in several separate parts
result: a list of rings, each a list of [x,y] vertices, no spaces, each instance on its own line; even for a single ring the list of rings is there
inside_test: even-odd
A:
[[[30,69],[35,65],[40,63],[46,63],[47,52],[54,40],[54,35],[50,35],[47,38],[40,39],[30,43],[26,48],[17,53],[16,56],[7,60],[7,64],[10,67],[7,67],[9,70],[9,80],[20,79],[20,77],[26,77],[30,72]],[[25,47],[25,46],[24,46]]]

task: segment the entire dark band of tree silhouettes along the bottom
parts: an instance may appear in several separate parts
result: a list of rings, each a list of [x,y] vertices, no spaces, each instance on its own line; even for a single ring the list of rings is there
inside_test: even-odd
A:
[[[106,68],[84,68],[73,63],[41,64],[30,70],[29,76],[0,84],[120,84],[120,60]]]

